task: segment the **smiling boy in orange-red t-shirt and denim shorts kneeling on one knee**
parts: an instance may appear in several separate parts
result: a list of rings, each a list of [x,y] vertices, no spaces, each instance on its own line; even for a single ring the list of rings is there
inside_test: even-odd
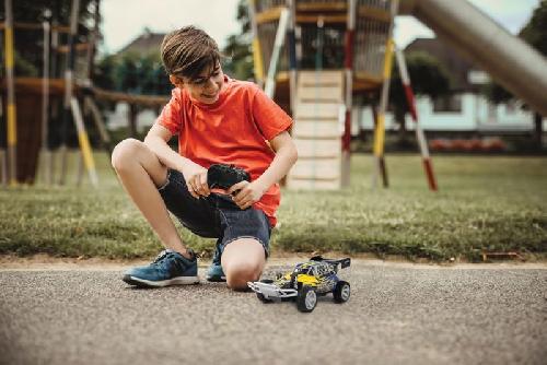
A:
[[[266,264],[280,202],[277,182],[298,158],[288,133],[292,119],[253,83],[224,75],[218,46],[203,31],[187,26],[167,34],[161,54],[175,86],[172,98],[144,141],[121,141],[112,164],[165,250],[151,264],[127,271],[124,281],[199,282],[196,255],[168,210],[195,234],[218,238],[208,280],[223,281],[225,274],[229,287],[244,290]],[[175,134],[179,154],[167,145]],[[207,168],[214,163],[245,169],[251,182],[211,191]]]

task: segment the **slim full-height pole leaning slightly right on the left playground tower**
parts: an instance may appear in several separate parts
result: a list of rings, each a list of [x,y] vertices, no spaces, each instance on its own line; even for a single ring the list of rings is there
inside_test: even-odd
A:
[[[68,127],[71,117],[70,103],[72,99],[72,86],[73,86],[73,70],[74,70],[74,48],[75,48],[75,37],[78,34],[78,14],[80,13],[80,0],[72,0],[72,12],[70,15],[70,33],[69,33],[69,55],[68,64],[65,70],[65,109],[62,113],[62,129],[61,129],[61,176],[59,184],[63,185],[67,178],[67,143],[68,143]]]

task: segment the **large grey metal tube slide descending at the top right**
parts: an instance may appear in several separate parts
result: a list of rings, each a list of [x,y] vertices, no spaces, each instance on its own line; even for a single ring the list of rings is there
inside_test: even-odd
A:
[[[547,59],[466,0],[403,0],[416,16],[535,111],[547,117]]]

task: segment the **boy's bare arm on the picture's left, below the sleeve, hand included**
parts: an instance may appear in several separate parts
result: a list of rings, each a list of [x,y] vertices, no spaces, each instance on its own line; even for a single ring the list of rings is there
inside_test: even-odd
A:
[[[208,196],[210,191],[207,186],[207,168],[173,151],[167,144],[172,137],[173,133],[167,128],[155,123],[144,138],[144,144],[163,165],[183,173],[188,191],[194,198]]]

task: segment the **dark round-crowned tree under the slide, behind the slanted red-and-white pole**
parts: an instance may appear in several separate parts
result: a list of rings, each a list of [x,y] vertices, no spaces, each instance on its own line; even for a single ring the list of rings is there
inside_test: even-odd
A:
[[[412,82],[412,91],[416,95],[434,98],[449,93],[450,76],[439,60],[426,52],[411,52],[405,55],[405,58]],[[409,109],[398,68],[393,70],[389,90],[389,105],[395,120],[399,125],[399,137],[400,142],[403,142],[406,132],[405,115]]]

